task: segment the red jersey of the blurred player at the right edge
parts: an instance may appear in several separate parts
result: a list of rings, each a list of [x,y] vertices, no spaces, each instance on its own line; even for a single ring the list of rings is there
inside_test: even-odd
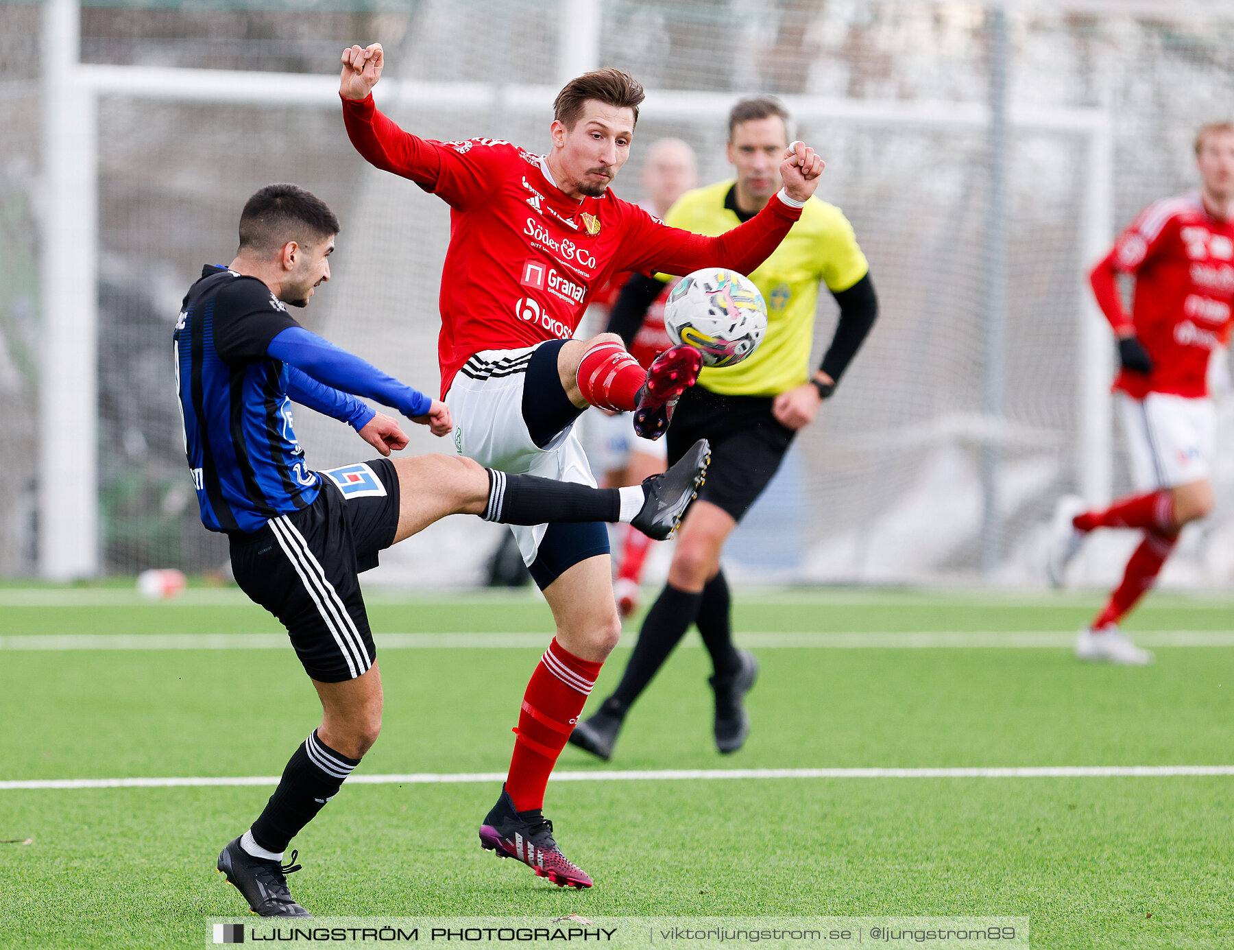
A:
[[[1118,274],[1135,275],[1128,315]],[[1116,332],[1134,330],[1153,372],[1119,372],[1114,388],[1135,399],[1208,394],[1208,361],[1230,332],[1234,222],[1213,217],[1198,194],[1155,201],[1140,212],[1090,274]]]

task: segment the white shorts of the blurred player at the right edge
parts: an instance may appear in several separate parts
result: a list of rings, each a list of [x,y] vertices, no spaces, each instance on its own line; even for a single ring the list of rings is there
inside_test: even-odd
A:
[[[1208,478],[1217,434],[1212,399],[1169,393],[1132,399],[1119,393],[1118,401],[1135,490],[1176,488]]]

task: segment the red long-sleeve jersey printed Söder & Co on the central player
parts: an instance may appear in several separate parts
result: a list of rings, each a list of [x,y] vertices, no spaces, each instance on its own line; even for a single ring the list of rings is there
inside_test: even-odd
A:
[[[439,301],[443,397],[481,350],[569,340],[592,294],[613,274],[687,274],[702,267],[748,274],[801,216],[801,209],[772,199],[740,227],[703,237],[668,227],[611,190],[569,198],[543,157],[510,142],[413,136],[378,111],[373,96],[344,98],[343,120],[369,162],[450,206]]]

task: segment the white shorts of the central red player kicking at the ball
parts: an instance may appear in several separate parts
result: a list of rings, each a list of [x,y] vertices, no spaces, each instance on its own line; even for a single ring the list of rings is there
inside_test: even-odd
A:
[[[454,419],[454,450],[486,468],[534,474],[596,487],[574,425],[544,448],[532,441],[523,420],[523,384],[536,347],[484,350],[459,371],[445,394]],[[511,525],[523,563],[536,561],[548,525]]]

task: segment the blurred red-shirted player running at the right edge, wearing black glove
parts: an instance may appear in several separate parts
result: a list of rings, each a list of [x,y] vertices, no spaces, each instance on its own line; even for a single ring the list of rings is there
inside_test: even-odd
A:
[[[1234,303],[1234,125],[1204,126],[1195,147],[1201,190],[1149,205],[1090,275],[1118,336],[1114,390],[1137,494],[1098,511],[1083,510],[1077,498],[1061,499],[1050,578],[1061,584],[1067,562],[1095,529],[1134,528],[1144,540],[1104,609],[1080,631],[1081,660],[1153,662],[1118,623],[1153,586],[1182,526],[1213,507],[1215,415],[1207,377],[1228,338]],[[1120,274],[1135,278],[1130,315],[1118,290]]]

